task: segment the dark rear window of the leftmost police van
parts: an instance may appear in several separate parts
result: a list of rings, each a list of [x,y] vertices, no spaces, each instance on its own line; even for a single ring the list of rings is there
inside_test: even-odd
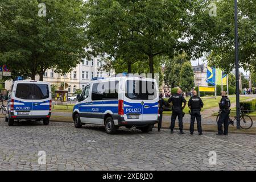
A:
[[[15,97],[25,100],[49,98],[49,87],[47,84],[17,84]]]

